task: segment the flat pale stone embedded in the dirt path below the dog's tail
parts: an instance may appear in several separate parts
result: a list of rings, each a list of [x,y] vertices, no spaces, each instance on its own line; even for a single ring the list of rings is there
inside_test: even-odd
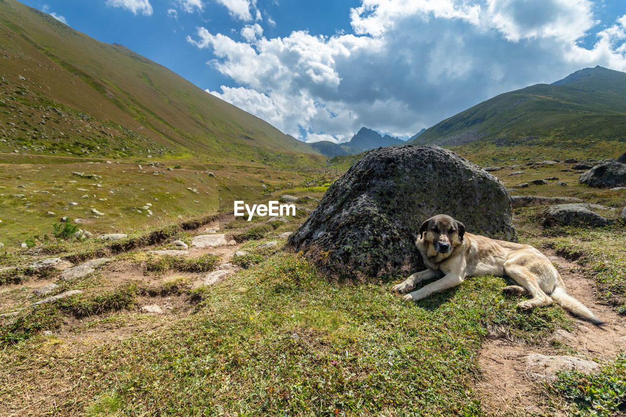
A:
[[[546,356],[531,353],[526,356],[526,375],[533,381],[556,381],[560,371],[578,371],[589,374],[600,368],[595,362],[575,356]]]

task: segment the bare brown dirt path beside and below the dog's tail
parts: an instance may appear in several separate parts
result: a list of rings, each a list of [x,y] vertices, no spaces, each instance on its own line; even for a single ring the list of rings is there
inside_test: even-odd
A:
[[[526,356],[531,353],[545,355],[563,354],[553,346],[553,341],[567,345],[576,353],[567,353],[586,359],[605,360],[626,350],[626,318],[611,307],[600,304],[593,295],[593,279],[582,274],[582,268],[562,257],[546,252],[557,265],[565,281],[568,294],[589,307],[605,326],[597,327],[577,320],[571,332],[558,330],[552,339],[540,346],[531,346],[502,338],[483,342],[478,361],[483,374],[476,389],[489,414],[530,415],[546,412],[541,391],[544,388],[526,375]]]

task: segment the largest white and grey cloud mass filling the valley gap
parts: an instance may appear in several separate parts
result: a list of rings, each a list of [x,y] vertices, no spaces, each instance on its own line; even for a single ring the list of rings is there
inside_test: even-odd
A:
[[[412,136],[585,66],[626,70],[626,16],[581,46],[597,26],[593,9],[590,0],[363,0],[346,10],[352,33],[266,39],[255,24],[241,42],[205,28],[188,41],[238,85],[213,95],[301,140],[345,142],[361,126]]]

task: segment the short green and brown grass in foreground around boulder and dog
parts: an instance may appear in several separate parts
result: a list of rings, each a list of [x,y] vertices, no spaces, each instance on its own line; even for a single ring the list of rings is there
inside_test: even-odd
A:
[[[517,177],[508,176],[507,168],[496,174],[511,187],[537,178],[534,173],[552,177],[560,169],[527,168],[528,173]],[[570,175],[559,175],[564,174]],[[573,174],[563,179],[566,187],[531,186],[518,193],[572,195],[613,206],[623,201],[623,196],[577,185]],[[319,198],[325,188],[284,188],[276,195]],[[303,205],[312,209],[315,204]],[[621,308],[623,227],[543,229],[538,227],[540,210],[515,210],[520,239],[586,260],[583,265],[595,276],[600,299],[615,300]],[[83,289],[80,297],[17,319],[0,318],[0,414],[482,415],[475,383],[488,330],[504,327],[511,337],[533,346],[555,329],[570,326],[569,316],[556,306],[516,311],[518,297],[503,296],[500,287],[505,281],[497,277],[468,279],[456,289],[407,304],[389,292],[398,277],[361,286],[332,282],[302,255],[282,247],[284,240],[277,247],[258,249],[294,230],[303,215],[299,219],[277,228],[260,227],[265,219],[259,217],[250,223],[220,224],[240,236],[239,249],[249,253],[231,260],[243,270],[210,287],[192,289],[190,282],[199,276],[198,270],[215,266],[212,259],[153,259],[135,252],[139,245],[117,255],[100,272],[62,288]],[[188,242],[198,233],[168,230],[171,233],[156,242],[156,248],[168,248],[167,242],[176,238]],[[129,239],[155,243],[141,239],[141,234]],[[51,247],[68,259],[81,259],[105,250],[103,245],[88,240]],[[20,252],[5,255],[3,264],[28,259]],[[115,265],[134,268],[135,281],[108,281],[120,268]],[[19,285],[26,288],[38,279],[46,277],[6,284],[10,290],[0,297],[27,299],[28,291]],[[145,302],[140,303],[141,297]],[[163,318],[136,311],[138,304],[167,297],[180,302]],[[102,328],[106,330],[99,333],[101,338],[91,337],[94,329]],[[43,336],[45,330],[53,336]],[[602,377],[589,379],[588,386],[613,392],[610,381],[622,378],[620,363]],[[550,391],[555,408],[588,412],[579,401],[583,391],[572,382],[580,378],[560,379]]]

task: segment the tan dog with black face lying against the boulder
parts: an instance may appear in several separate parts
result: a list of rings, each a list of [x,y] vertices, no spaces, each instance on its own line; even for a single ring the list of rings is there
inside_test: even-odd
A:
[[[563,279],[552,262],[530,245],[466,233],[463,223],[444,214],[431,217],[421,225],[415,244],[427,269],[410,275],[391,291],[404,294],[421,281],[440,279],[406,294],[404,301],[418,301],[433,292],[456,287],[471,275],[506,275],[519,285],[504,287],[504,292],[533,296],[520,301],[517,304],[519,309],[550,306],[557,301],[574,316],[598,326],[603,324],[580,301],[568,296]]]

